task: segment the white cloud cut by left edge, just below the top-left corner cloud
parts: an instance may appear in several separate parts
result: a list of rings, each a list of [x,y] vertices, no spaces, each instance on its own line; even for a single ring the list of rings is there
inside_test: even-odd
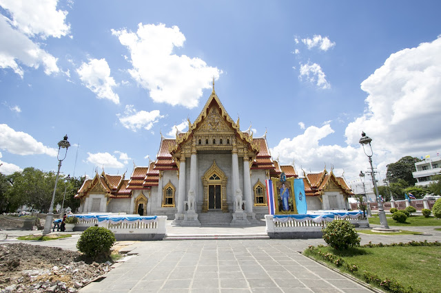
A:
[[[45,74],[50,75],[59,72],[57,61],[58,58],[42,50],[25,34],[14,30],[6,17],[0,15],[0,68],[10,68],[23,78],[24,70],[21,65],[34,69],[43,65]]]

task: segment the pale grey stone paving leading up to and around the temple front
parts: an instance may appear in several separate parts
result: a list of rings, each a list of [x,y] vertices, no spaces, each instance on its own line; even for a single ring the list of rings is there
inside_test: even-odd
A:
[[[265,233],[265,226],[246,228],[186,227],[167,223],[174,235]],[[440,226],[441,227],[441,226]],[[438,228],[440,228],[438,227]],[[441,241],[437,227],[400,227],[424,235],[365,235],[361,243]],[[0,231],[29,235],[30,231]],[[74,250],[78,234],[70,239],[35,241]],[[299,252],[322,239],[121,241],[135,255],[117,263],[105,279],[81,292],[371,292],[369,288],[316,263]]]

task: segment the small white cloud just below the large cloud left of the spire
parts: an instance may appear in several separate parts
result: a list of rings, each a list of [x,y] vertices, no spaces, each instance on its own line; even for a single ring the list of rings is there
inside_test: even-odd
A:
[[[134,105],[126,105],[124,116],[121,114],[116,114],[119,121],[123,126],[132,131],[137,131],[141,128],[150,130],[154,123],[157,123],[159,119],[164,118],[159,113],[159,110],[153,110],[150,112],[139,111],[134,109]]]

